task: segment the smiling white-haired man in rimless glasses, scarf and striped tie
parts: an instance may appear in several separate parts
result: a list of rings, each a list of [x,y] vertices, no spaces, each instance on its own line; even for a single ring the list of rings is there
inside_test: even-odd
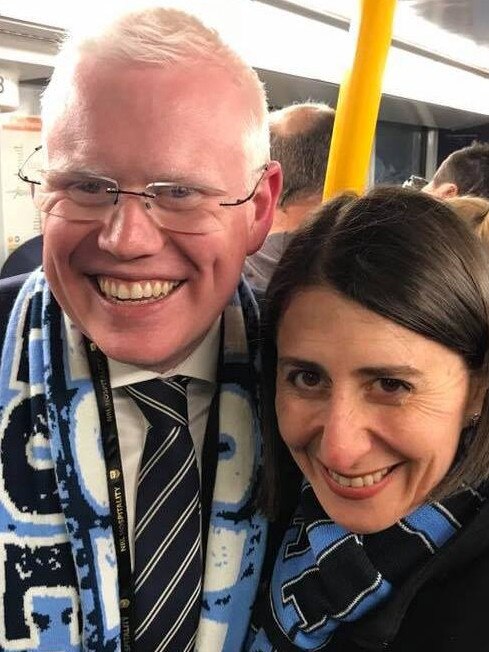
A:
[[[0,647],[237,652],[266,544],[240,284],[281,186],[264,90],[148,9],[71,36],[42,122],[19,176],[43,271],[0,372]]]

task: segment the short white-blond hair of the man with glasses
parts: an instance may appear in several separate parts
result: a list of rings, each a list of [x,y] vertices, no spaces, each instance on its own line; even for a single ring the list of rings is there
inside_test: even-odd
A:
[[[91,20],[70,31],[41,100],[44,143],[70,104],[76,66],[85,56],[162,67],[199,63],[203,75],[206,65],[222,66],[243,88],[243,148],[249,171],[269,160],[267,99],[258,75],[214,29],[191,14],[169,7],[128,12],[110,22]]]

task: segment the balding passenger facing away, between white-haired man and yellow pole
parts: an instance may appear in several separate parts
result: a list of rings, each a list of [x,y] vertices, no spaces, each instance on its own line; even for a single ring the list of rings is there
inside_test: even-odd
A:
[[[283,187],[270,234],[248,256],[245,277],[263,293],[292,233],[322,201],[335,112],[306,102],[270,112],[271,156],[282,166]]]

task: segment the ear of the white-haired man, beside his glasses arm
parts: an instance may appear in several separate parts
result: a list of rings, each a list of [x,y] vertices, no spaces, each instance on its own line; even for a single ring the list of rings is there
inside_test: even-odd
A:
[[[282,168],[270,161],[252,199],[253,211],[249,215],[247,254],[254,254],[263,244],[273,222],[275,207],[282,191]]]

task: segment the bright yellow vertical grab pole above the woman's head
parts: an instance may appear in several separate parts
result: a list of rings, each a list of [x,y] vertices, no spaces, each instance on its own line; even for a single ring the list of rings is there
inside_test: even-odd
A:
[[[345,190],[362,193],[367,182],[396,0],[359,3],[354,59],[340,86],[323,200]]]

